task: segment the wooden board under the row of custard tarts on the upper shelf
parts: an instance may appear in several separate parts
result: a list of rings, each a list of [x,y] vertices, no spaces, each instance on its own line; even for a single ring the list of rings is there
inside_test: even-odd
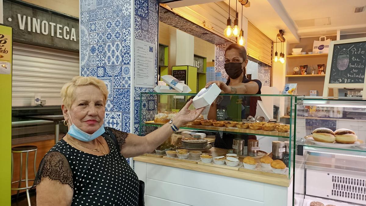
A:
[[[184,125],[182,127],[189,127],[189,128],[194,128],[194,129],[216,130],[216,131],[223,131],[223,132],[251,133],[251,134],[254,134],[254,135],[284,136],[284,137],[289,137],[290,136],[290,133],[288,133],[288,132],[277,132],[277,131],[269,132],[269,131],[264,131],[264,130],[227,128],[227,127],[191,125],[191,124],[187,124],[187,125]]]

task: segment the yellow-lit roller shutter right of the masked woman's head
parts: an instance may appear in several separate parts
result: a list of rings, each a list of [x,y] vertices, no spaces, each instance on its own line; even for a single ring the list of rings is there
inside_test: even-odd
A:
[[[269,66],[272,66],[273,41],[248,22],[247,53]]]

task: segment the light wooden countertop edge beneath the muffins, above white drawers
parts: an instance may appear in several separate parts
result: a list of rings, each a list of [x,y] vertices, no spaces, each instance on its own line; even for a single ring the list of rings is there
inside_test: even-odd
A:
[[[235,177],[235,178],[239,178],[239,179],[257,181],[257,182],[261,182],[261,183],[279,185],[279,186],[283,186],[283,187],[289,187],[290,183],[291,183],[291,179],[287,179],[287,178],[283,178],[283,177],[273,177],[273,176],[267,176],[267,175],[263,175],[263,174],[246,173],[246,172],[242,172],[242,171],[229,170],[229,169],[217,168],[217,167],[212,167],[212,166],[205,166],[205,165],[201,165],[201,164],[179,162],[179,161],[163,159],[163,158],[138,156],[138,157],[134,157],[133,160],[139,161],[139,162],[153,163],[153,164],[157,164],[157,165],[170,166],[170,167],[174,167],[174,168],[182,168],[182,169],[194,170],[194,171],[198,171],[198,172],[206,172],[206,173],[218,174],[218,175],[223,175],[223,176],[228,176],[228,177]]]

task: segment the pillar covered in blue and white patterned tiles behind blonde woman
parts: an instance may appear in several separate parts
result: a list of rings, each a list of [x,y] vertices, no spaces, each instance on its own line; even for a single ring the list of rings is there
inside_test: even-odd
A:
[[[81,76],[103,80],[109,91],[105,126],[138,134],[140,92],[153,90],[134,86],[133,43],[155,44],[157,58],[157,0],[81,0],[80,26]],[[157,62],[151,69],[157,73]],[[154,97],[142,103],[143,117],[157,110]]]

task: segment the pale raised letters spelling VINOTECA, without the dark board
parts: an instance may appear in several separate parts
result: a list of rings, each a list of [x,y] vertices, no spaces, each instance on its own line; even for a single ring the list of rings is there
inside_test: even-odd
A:
[[[76,41],[75,29],[69,28],[68,26],[45,20],[41,21],[40,19],[21,14],[18,14],[18,23],[20,30],[27,30],[28,32],[42,33],[44,35]]]

